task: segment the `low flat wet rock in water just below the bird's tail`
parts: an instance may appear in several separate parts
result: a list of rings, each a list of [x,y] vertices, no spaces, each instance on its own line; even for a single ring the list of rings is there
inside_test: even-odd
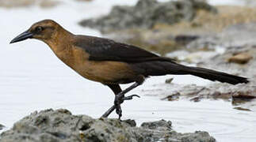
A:
[[[254,79],[252,79],[254,80]],[[209,84],[206,86],[181,85],[181,84],[166,84],[166,92],[162,93],[164,99],[178,100],[189,99],[194,102],[199,102],[201,99],[227,99],[232,100],[232,103],[241,103],[241,101],[247,102],[252,99],[256,99],[255,81],[250,84]],[[168,86],[167,86],[168,85]],[[178,92],[178,97],[176,96]],[[172,94],[172,95],[168,95]]]

